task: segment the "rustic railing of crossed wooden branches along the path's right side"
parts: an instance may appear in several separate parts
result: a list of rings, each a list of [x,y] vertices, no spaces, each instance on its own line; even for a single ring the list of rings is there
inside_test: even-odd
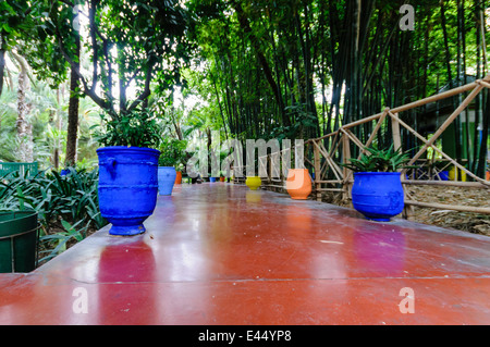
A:
[[[414,170],[401,170],[402,184],[405,190],[405,216],[408,216],[412,213],[413,206],[490,214],[490,208],[488,207],[469,207],[461,205],[443,205],[428,201],[417,201],[408,194],[406,189],[407,185],[442,185],[490,189],[489,181],[477,176],[475,173],[465,168],[461,161],[458,162],[455,159],[451,158],[449,154],[439,149],[438,146],[436,146],[436,141],[440,138],[441,134],[457,119],[457,116],[470,104],[470,102],[477,97],[479,92],[481,92],[483,88],[490,88],[490,75],[488,75],[483,79],[478,79],[474,83],[394,109],[385,108],[378,114],[373,114],[356,122],[345,124],[333,133],[327,134],[319,138],[306,140],[304,159],[305,164],[309,165],[309,168],[315,173],[313,182],[314,198],[316,200],[321,200],[323,191],[333,191],[335,194],[342,194],[342,199],[350,201],[351,188],[354,182],[353,172],[346,168],[341,166],[339,162],[348,162],[351,159],[352,149],[357,151],[358,158],[360,158],[362,153],[366,151],[365,148],[369,147],[377,139],[380,129],[382,127],[389,127],[389,123],[391,123],[391,135],[394,148],[402,147],[402,149],[406,149],[402,146],[403,141],[401,128],[404,128],[405,133],[411,134],[414,138],[421,141],[421,147],[412,157],[408,165],[418,165],[420,169],[427,166],[428,160],[421,157],[429,148],[431,148],[434,153],[438,153],[442,158],[442,160],[440,161],[444,162],[446,168],[454,166],[456,172],[457,170],[460,170],[461,172],[464,172],[466,174],[467,178],[473,179],[473,182],[442,181],[439,175],[441,170],[437,169],[433,170],[433,172],[431,169],[430,174],[426,171],[426,177],[421,177],[425,179],[417,179],[417,175]],[[430,138],[426,138],[417,133],[413,127],[411,127],[399,116],[399,114],[402,112],[422,107],[430,102],[436,102],[450,97],[454,97],[463,92],[469,94]],[[368,139],[366,140],[366,142],[363,142],[355,135],[355,132],[353,132],[353,129],[357,126],[365,126],[367,123],[376,124],[372,124],[372,131]],[[326,148],[326,144],[329,149]],[[486,145],[483,144],[482,146]],[[280,153],[268,154],[266,157],[259,158],[259,165],[269,165],[271,156],[275,154],[279,156]],[[265,186],[266,188],[269,187],[284,189],[284,174],[281,172],[279,178],[272,178],[274,176],[277,177],[277,175],[272,174],[271,170],[268,170],[267,172],[269,173],[269,177],[265,179],[262,178],[262,186]]]

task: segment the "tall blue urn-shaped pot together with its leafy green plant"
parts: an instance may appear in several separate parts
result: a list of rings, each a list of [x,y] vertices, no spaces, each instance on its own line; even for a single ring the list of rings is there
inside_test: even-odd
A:
[[[106,129],[97,135],[103,147],[99,158],[99,207],[112,224],[111,235],[131,236],[146,231],[158,195],[156,149],[162,128],[150,111],[134,109],[119,115],[103,114]]]

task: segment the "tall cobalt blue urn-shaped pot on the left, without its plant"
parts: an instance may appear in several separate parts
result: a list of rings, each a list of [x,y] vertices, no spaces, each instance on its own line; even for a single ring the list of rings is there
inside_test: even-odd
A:
[[[160,151],[140,147],[105,147],[99,157],[99,207],[112,224],[109,234],[144,233],[143,222],[154,213],[158,194]]]

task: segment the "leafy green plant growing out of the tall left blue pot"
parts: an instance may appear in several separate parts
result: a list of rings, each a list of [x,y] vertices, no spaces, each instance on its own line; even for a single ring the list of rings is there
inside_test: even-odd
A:
[[[95,137],[101,146],[127,146],[157,148],[162,126],[148,110],[134,109],[119,116],[101,114],[106,128]]]

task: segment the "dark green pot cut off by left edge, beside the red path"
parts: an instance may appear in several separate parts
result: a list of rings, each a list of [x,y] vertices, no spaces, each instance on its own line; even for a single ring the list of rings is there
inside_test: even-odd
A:
[[[37,212],[0,213],[0,273],[36,268]]]

